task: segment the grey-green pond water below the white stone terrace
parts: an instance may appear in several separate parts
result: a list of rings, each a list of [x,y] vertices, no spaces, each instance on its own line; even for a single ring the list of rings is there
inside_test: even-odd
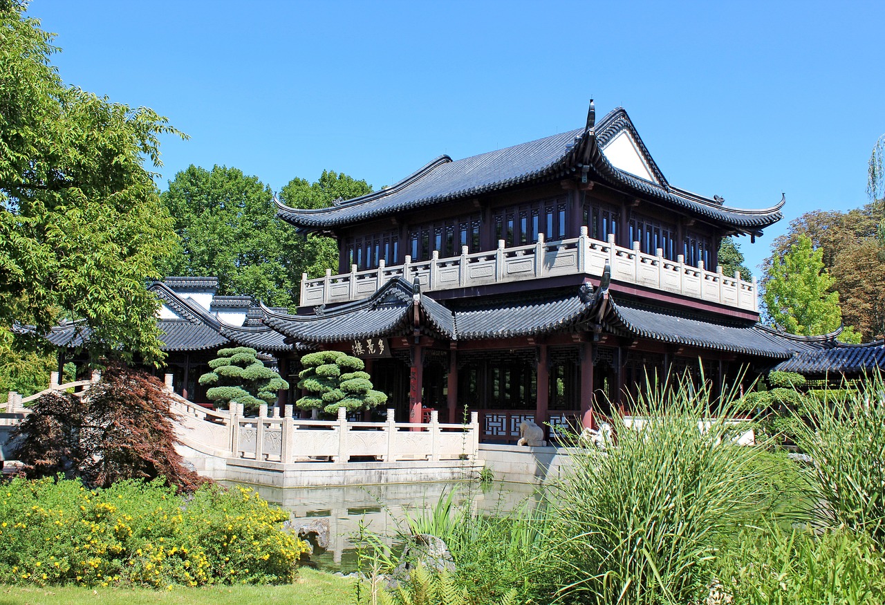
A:
[[[312,563],[319,569],[348,573],[357,569],[356,545],[360,523],[381,535],[388,544],[398,532],[407,532],[405,512],[412,517],[432,509],[443,494],[458,490],[455,502],[471,502],[477,513],[509,511],[527,500],[539,498],[537,488],[522,483],[477,482],[408,483],[383,486],[346,487],[265,487],[250,486],[268,502],[288,509],[293,522],[303,519],[327,520],[328,548],[314,546]]]

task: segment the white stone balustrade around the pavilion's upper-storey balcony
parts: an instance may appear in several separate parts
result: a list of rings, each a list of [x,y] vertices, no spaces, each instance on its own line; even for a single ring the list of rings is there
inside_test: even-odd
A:
[[[609,241],[589,238],[587,227],[581,227],[579,237],[544,241],[543,235],[533,244],[504,248],[504,240],[498,248],[485,252],[467,253],[461,249],[459,257],[440,258],[434,251],[429,260],[412,262],[405,257],[403,264],[385,266],[382,260],[377,269],[357,271],[352,265],[350,273],[309,280],[304,273],[301,280],[301,305],[347,303],[366,298],[391,278],[402,277],[414,282],[419,280],[425,292],[450,290],[462,287],[480,287],[494,284],[540,280],[563,275],[602,275],[605,263],[612,266],[612,281],[648,287],[668,294],[695,298],[705,303],[717,303],[740,310],[758,312],[758,287],[756,278],[741,279],[740,272],[734,276],[685,264],[680,255],[677,260],[664,257],[662,249],[657,255],[645,254],[635,241],[632,249],[623,248]]]

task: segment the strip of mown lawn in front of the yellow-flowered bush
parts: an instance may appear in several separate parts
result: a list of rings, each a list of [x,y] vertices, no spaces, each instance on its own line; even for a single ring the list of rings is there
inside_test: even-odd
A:
[[[0,605],[342,605],[354,601],[353,579],[310,569],[289,586],[218,586],[156,591],[146,588],[0,586]]]

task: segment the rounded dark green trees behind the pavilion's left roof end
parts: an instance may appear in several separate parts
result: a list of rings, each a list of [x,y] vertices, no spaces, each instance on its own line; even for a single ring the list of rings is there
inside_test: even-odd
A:
[[[292,180],[281,197],[289,205],[319,208],[366,190],[366,181],[323,172],[316,183]],[[271,188],[236,168],[190,165],[161,197],[181,238],[161,264],[166,275],[216,275],[220,295],[251,295],[295,310],[301,274],[316,277],[337,267],[335,241],[297,234],[276,218]]]

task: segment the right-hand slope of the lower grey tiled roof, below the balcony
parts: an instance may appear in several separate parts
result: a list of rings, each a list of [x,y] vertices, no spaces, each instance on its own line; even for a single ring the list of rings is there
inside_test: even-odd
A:
[[[804,339],[777,333],[758,324],[726,323],[692,316],[681,310],[655,309],[613,300],[606,313],[606,324],[615,330],[656,341],[781,359],[826,343],[820,338]]]

